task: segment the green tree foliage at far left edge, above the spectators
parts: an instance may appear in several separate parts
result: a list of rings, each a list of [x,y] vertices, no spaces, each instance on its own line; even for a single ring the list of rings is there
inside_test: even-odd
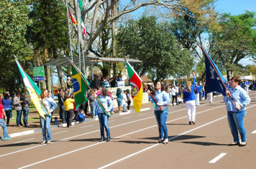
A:
[[[0,3],[0,81],[1,87],[11,92],[22,90],[22,78],[14,55],[29,74],[32,70],[32,50],[25,34],[29,21],[28,1],[2,0]]]

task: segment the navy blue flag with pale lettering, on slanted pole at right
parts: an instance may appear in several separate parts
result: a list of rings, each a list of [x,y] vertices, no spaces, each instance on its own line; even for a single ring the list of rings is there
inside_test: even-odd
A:
[[[224,83],[224,78],[218,67],[216,67],[216,64],[214,64],[214,61],[211,59],[210,55],[206,52],[206,49],[204,49],[204,52],[204,57],[206,59],[206,94],[216,91],[225,96],[226,86]]]

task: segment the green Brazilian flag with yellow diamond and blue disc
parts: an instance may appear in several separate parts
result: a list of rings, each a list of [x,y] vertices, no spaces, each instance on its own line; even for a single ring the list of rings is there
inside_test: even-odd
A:
[[[72,65],[72,77],[73,77],[73,92],[75,95],[75,105],[77,109],[82,102],[87,101],[86,91],[88,90],[89,88],[88,86],[90,86],[90,83],[75,65],[73,64],[71,65]]]

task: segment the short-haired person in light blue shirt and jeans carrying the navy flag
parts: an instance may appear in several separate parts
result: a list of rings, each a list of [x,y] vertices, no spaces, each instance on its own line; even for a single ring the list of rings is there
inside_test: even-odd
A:
[[[246,106],[250,104],[251,99],[247,92],[240,87],[241,82],[240,77],[232,77],[230,81],[231,89],[226,91],[226,96],[223,99],[227,104],[227,119],[234,140],[229,146],[239,145],[243,147],[247,145],[244,116],[246,114]],[[241,143],[239,143],[238,132],[241,136]]]

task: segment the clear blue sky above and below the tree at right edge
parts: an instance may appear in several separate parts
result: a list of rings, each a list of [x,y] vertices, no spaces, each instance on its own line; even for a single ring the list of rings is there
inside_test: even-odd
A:
[[[230,13],[232,15],[243,14],[246,10],[256,12],[256,0],[219,0],[216,1],[215,6],[216,11],[219,11],[219,13]],[[255,64],[249,59],[241,59],[239,63],[243,66]]]

